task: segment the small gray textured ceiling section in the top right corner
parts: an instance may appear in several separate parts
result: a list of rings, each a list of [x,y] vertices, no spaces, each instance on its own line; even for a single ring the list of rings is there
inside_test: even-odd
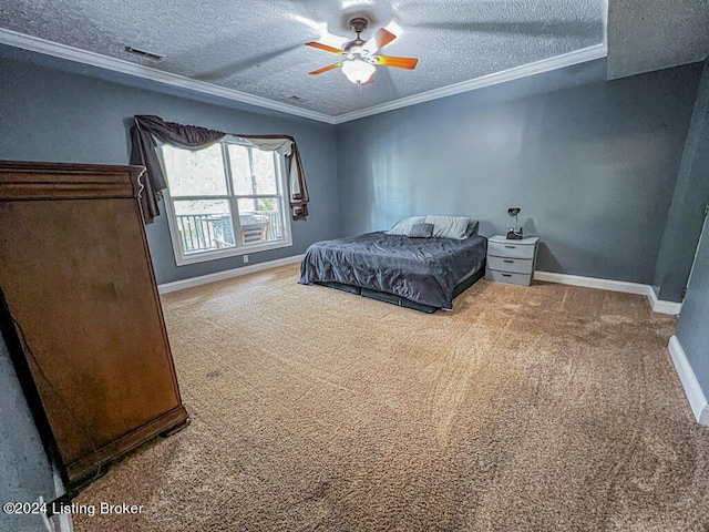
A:
[[[709,55],[709,0],[613,0],[608,79],[701,61]]]

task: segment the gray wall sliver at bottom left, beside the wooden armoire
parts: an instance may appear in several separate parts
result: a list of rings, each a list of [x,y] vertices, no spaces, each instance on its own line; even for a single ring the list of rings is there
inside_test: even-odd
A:
[[[0,503],[52,501],[54,481],[34,420],[0,336]],[[39,515],[0,511],[0,530],[45,532]]]

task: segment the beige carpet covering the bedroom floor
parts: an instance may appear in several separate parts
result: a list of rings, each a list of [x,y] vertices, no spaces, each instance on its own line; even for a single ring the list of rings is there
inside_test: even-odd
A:
[[[287,266],[164,296],[192,426],[82,531],[706,531],[709,430],[644,297],[479,282],[424,315]]]

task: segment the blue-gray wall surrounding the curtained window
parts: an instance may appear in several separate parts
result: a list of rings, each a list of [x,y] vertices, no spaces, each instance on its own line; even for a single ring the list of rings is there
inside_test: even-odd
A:
[[[61,69],[61,70],[60,70]],[[301,254],[338,226],[335,126],[197,96],[174,88],[0,47],[0,158],[127,164],[135,114],[244,134],[296,139],[310,193],[310,216],[292,223],[292,247],[249,254],[249,264]],[[175,265],[165,216],[146,226],[158,283],[244,265],[242,257]]]

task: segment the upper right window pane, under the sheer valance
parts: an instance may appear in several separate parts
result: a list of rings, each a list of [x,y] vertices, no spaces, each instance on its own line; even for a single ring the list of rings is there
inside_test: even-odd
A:
[[[235,194],[267,195],[278,193],[274,152],[229,144],[229,161]]]

